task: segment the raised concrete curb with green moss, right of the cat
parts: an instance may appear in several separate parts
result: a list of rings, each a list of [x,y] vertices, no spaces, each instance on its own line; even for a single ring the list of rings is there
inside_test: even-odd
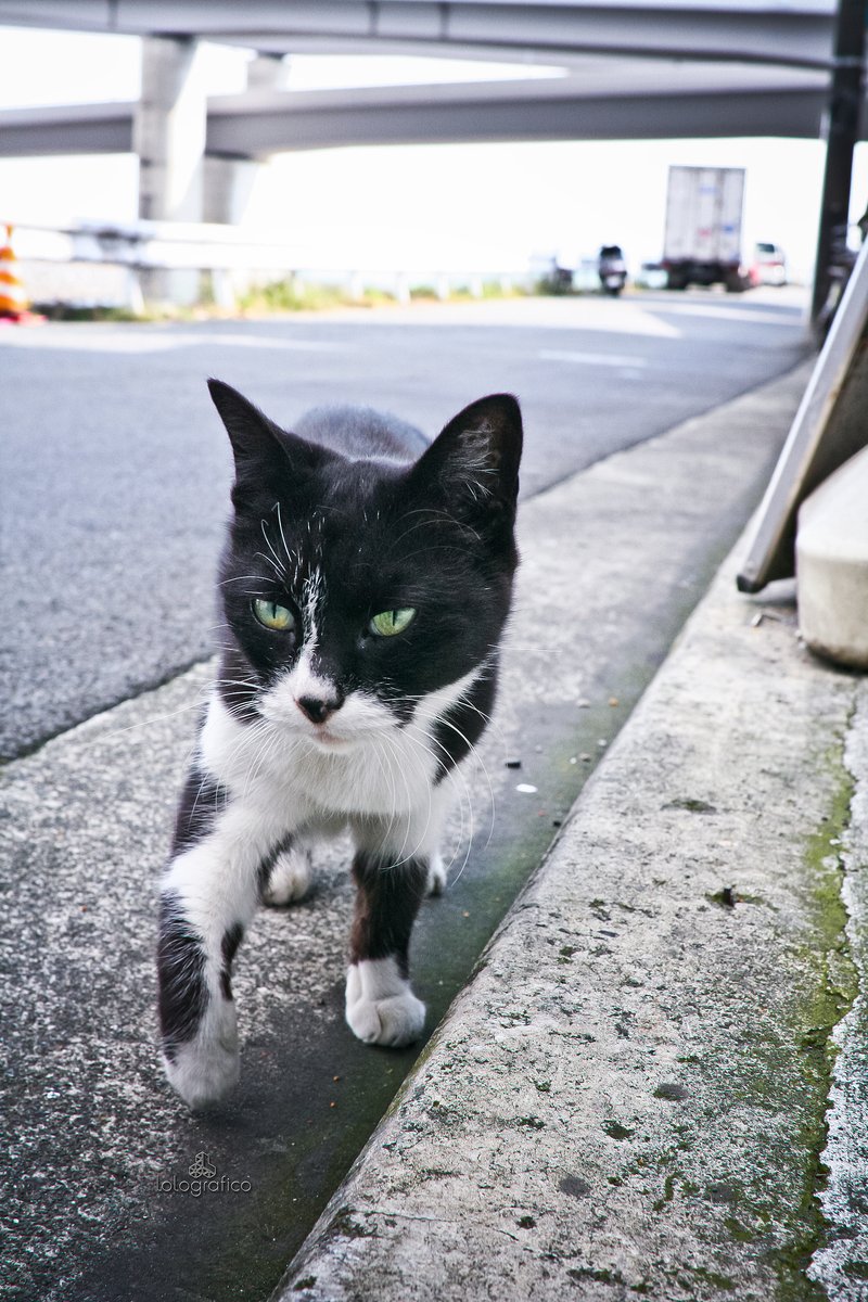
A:
[[[868,1297],[868,686],[738,560],[281,1302]]]

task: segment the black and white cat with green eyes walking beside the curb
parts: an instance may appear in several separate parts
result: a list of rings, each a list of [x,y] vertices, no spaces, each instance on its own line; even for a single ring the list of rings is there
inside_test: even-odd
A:
[[[310,884],[311,841],[349,828],[358,896],[346,1021],[407,1044],[426,1009],[407,949],[457,766],[492,710],[513,574],[522,422],[493,395],[428,445],[375,411],[288,434],[210,381],[232,440],[224,642],[161,887],[160,1018],[191,1105],[238,1078],[232,962],[260,901]]]

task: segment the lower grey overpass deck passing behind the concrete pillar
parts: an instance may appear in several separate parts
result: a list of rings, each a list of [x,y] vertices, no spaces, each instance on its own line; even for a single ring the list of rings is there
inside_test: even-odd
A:
[[[781,135],[816,139],[828,74],[748,64],[588,59],[562,77],[250,91],[207,103],[206,152],[259,159],[281,150],[462,141],[664,139]],[[0,112],[0,156],[124,154],[138,105],[75,104]]]

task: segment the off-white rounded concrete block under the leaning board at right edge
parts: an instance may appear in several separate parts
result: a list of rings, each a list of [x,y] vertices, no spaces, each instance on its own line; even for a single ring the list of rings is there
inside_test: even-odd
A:
[[[799,630],[820,655],[868,668],[868,448],[803,503],[796,534]]]

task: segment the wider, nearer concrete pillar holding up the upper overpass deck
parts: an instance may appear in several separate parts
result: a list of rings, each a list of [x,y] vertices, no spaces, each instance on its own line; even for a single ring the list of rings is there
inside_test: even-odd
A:
[[[202,221],[207,99],[193,38],[142,42],[142,96],[133,146],[139,156],[139,216],[150,221]],[[199,297],[198,271],[146,271],[144,297],[189,305]]]

